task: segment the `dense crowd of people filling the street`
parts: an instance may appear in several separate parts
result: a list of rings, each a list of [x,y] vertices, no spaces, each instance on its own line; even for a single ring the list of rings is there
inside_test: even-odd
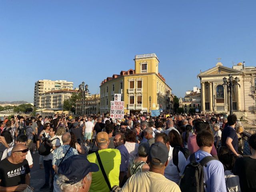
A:
[[[37,152],[40,190],[256,191],[256,134],[244,156],[235,114],[18,115],[4,118],[0,131],[0,192],[33,190]]]

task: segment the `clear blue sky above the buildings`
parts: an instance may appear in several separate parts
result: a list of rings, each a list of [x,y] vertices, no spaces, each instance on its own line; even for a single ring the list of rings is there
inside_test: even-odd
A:
[[[178,97],[200,70],[256,66],[255,0],[0,1],[0,101],[33,102],[40,79],[100,82],[156,53]]]

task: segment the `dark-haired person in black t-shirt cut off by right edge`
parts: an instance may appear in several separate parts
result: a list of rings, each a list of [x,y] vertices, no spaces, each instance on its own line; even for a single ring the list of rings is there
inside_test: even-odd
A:
[[[242,192],[256,191],[256,134],[248,140],[252,155],[238,158],[233,168],[233,173],[239,176]]]

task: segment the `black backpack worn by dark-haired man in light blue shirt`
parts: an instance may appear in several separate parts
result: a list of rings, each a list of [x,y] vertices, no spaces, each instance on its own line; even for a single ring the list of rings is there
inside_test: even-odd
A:
[[[213,156],[207,156],[200,162],[196,162],[195,154],[190,155],[190,163],[186,166],[179,184],[181,192],[205,192],[203,168],[211,160],[217,159]]]

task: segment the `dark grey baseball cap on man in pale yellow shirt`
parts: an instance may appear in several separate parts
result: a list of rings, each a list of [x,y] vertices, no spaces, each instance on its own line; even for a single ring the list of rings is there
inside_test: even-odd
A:
[[[162,142],[155,142],[150,146],[148,159],[154,165],[165,164],[168,160],[168,149]]]

